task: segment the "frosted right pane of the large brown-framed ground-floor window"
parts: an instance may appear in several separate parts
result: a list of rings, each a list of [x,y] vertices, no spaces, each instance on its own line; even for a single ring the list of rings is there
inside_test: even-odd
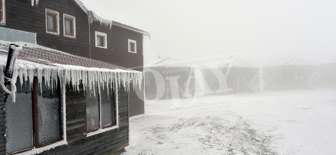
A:
[[[43,145],[61,139],[60,102],[56,88],[47,88],[42,78],[42,93],[36,82],[38,144]]]

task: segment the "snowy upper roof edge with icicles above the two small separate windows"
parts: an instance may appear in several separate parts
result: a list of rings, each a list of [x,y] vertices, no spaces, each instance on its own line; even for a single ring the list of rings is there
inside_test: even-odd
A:
[[[36,5],[38,5],[39,1],[40,0],[31,0],[32,6],[34,5],[34,2],[35,2]],[[147,31],[144,31],[144,30],[141,30],[139,28],[135,28],[135,27],[132,27],[132,26],[129,26],[129,25],[117,22],[117,21],[113,21],[113,20],[110,20],[110,19],[105,19],[105,18],[97,15],[94,11],[87,9],[87,7],[80,0],[74,0],[74,1],[88,15],[90,24],[92,24],[93,21],[96,21],[96,22],[99,22],[100,25],[104,25],[106,27],[109,27],[110,29],[112,28],[112,25],[115,25],[115,26],[126,28],[126,29],[129,29],[129,30],[132,30],[132,31],[135,31],[135,32],[138,32],[138,33],[141,33],[141,34],[144,34],[144,35],[147,35],[147,36],[150,37],[150,33],[147,32]]]

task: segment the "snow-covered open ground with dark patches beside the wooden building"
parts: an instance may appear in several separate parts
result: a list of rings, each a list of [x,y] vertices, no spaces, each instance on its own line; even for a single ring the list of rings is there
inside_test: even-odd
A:
[[[145,103],[123,154],[334,154],[333,89],[206,95]],[[202,102],[202,103],[200,103]]]

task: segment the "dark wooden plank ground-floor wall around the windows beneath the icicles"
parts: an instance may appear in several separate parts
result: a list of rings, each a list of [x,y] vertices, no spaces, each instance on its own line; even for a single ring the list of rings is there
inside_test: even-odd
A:
[[[119,127],[86,137],[86,102],[83,85],[76,92],[66,87],[67,145],[40,154],[111,154],[128,145],[128,94],[118,90]]]

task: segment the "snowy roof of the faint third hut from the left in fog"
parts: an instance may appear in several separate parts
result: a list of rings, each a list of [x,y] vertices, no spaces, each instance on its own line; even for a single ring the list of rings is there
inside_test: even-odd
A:
[[[271,63],[266,64],[265,66],[282,66],[282,65],[310,65],[317,66],[317,64],[310,62],[308,60],[299,58],[299,57],[285,57],[277,59]]]

